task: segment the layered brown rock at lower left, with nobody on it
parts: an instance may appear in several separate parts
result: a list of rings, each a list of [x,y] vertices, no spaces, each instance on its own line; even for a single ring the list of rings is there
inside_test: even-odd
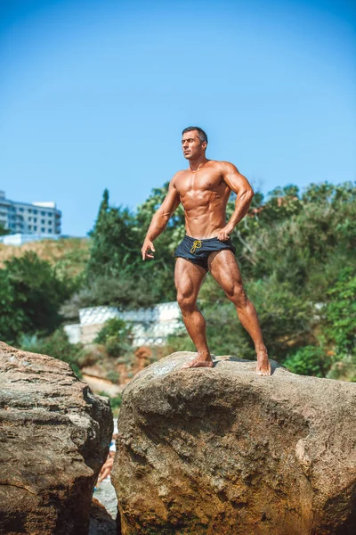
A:
[[[68,364],[0,342],[0,534],[87,535],[112,424]]]

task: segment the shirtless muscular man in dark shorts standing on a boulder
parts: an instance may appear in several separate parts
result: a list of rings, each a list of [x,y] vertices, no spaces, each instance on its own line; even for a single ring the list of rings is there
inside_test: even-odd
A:
[[[210,271],[235,305],[239,321],[255,343],[256,373],[271,375],[271,365],[255,307],[244,291],[235,248],[230,234],[247,214],[254,192],[247,178],[228,161],[206,159],[207,137],[198,127],[182,132],[182,151],[190,168],[178,171],[171,180],[166,199],[150,223],[142,245],[142,259],[153,259],[153,241],[166,228],[182,202],[186,236],[176,249],[174,282],[184,325],[198,351],[198,357],[182,367],[213,367],[206,342],[206,321],[197,306],[198,292]],[[236,193],[235,210],[226,223],[226,205]]]

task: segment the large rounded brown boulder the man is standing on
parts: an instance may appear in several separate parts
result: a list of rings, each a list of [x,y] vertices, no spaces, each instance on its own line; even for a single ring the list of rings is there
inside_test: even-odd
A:
[[[193,354],[124,391],[114,482],[123,535],[346,535],[356,531],[356,384]]]

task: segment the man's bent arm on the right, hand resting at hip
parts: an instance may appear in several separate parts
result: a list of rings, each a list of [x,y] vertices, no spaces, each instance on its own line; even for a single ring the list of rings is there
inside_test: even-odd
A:
[[[229,161],[222,161],[222,174],[223,180],[230,187],[230,189],[236,193],[235,210],[233,211],[231,218],[226,226],[218,233],[217,238],[222,240],[229,239],[229,235],[238,225],[242,218],[247,214],[250,207],[254,190],[249,184],[247,177],[244,177],[232,163]]]

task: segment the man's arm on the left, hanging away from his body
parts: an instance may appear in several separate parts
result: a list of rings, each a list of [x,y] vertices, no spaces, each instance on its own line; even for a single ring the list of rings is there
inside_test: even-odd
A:
[[[169,221],[169,218],[174,213],[174,210],[177,209],[179,203],[181,202],[179,193],[175,187],[175,176],[171,180],[168,188],[168,193],[164,202],[158,208],[157,212],[153,216],[149,230],[142,245],[142,260],[153,259],[153,254],[149,251],[156,251],[153,246],[153,240],[155,240],[166,228],[166,224]]]

